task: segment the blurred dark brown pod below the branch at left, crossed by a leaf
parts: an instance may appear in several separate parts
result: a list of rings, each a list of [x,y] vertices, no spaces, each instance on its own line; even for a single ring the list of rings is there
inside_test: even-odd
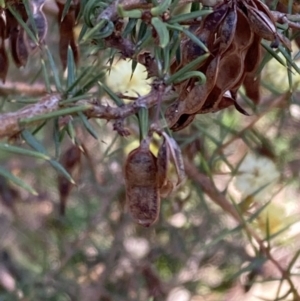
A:
[[[72,145],[63,154],[60,162],[66,171],[73,178],[76,178],[79,175],[79,167],[81,162],[80,148],[77,145]],[[60,215],[65,215],[67,200],[74,185],[63,175],[58,175],[57,182],[60,205],[59,212]]]

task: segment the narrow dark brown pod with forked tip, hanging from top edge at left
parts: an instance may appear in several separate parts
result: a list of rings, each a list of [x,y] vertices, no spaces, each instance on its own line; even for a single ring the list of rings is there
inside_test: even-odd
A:
[[[70,6],[69,11],[62,19],[62,14],[65,4],[62,4],[60,1],[56,1],[58,6],[58,22],[59,22],[59,54],[62,62],[63,69],[67,66],[68,59],[68,47],[70,45],[75,63],[78,63],[79,60],[79,49],[76,44],[75,35],[74,35],[74,26],[76,22],[76,16],[80,8],[80,1],[73,1],[73,4]]]

